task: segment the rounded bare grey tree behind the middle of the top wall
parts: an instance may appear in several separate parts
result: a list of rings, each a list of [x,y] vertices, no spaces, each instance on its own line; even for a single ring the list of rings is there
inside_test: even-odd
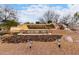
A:
[[[39,20],[42,23],[48,23],[49,21],[57,23],[59,16],[60,15],[57,14],[55,11],[48,10],[47,12],[44,13],[43,17],[40,18]]]

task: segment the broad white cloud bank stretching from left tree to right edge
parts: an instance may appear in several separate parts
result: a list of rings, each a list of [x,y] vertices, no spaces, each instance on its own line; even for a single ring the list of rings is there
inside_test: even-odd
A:
[[[61,6],[51,6],[48,5],[30,5],[28,7],[24,7],[26,10],[19,10],[18,15],[21,22],[35,22],[41,17],[47,10],[55,10],[60,15],[73,15],[76,11],[79,11],[79,5],[68,5],[68,8],[63,8]]]

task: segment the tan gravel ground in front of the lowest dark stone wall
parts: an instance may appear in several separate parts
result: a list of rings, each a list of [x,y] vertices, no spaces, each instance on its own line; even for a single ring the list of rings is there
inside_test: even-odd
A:
[[[33,41],[32,48],[28,47],[27,43],[1,43],[1,55],[78,55],[79,54],[79,34],[69,33],[74,42],[64,40],[64,35],[61,40],[61,48],[58,48],[56,41],[53,42],[38,42]]]

